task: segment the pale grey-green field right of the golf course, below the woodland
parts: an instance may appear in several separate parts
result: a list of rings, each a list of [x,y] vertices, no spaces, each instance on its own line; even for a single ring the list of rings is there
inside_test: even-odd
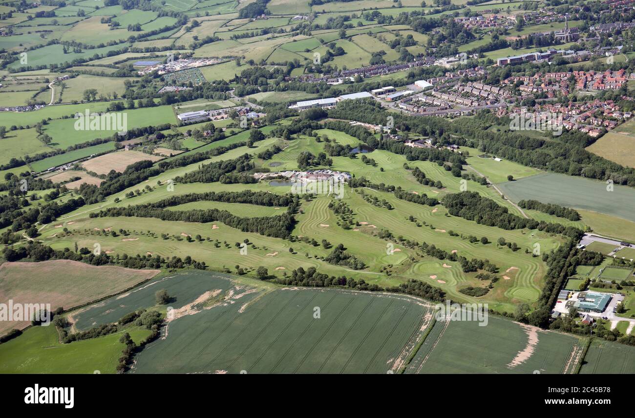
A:
[[[513,201],[537,199],[542,203],[601,212],[635,222],[635,190],[614,185],[606,190],[606,184],[597,180],[572,177],[556,173],[541,173],[498,185]]]

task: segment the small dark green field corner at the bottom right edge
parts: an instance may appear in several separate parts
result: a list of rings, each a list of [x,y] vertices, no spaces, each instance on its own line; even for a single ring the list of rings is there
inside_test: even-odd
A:
[[[635,347],[594,339],[584,356],[580,374],[634,374]]]

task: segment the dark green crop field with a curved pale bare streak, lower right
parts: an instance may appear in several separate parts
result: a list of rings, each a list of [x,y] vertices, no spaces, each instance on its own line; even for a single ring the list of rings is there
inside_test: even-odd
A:
[[[437,321],[406,373],[540,374],[571,373],[577,337],[544,331],[497,316],[488,323]]]

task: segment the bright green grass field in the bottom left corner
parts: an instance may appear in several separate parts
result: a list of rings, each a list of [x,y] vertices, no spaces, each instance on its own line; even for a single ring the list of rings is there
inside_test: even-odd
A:
[[[121,335],[128,332],[141,342],[149,330],[131,327],[115,334],[62,344],[57,330],[32,327],[18,338],[0,344],[0,373],[21,374],[114,374],[124,344]]]

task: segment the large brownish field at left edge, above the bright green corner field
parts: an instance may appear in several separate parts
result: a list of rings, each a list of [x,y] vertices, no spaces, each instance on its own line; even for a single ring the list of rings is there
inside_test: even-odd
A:
[[[57,228],[60,233],[62,230]],[[91,246],[92,248],[92,246]],[[0,266],[0,302],[51,304],[70,309],[100,299],[156,276],[158,270],[90,266],[70,260],[4,262]],[[28,321],[2,321],[0,334],[24,328]]]

